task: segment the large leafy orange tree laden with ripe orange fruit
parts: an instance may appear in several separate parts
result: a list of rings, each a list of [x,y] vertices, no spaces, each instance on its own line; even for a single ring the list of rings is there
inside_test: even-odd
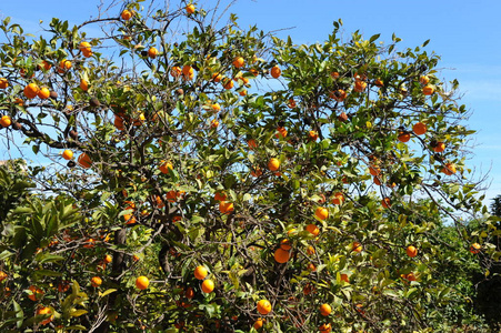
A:
[[[462,223],[487,212],[473,131],[425,43],[342,41],[337,21],[297,46],[140,2],[39,38],[0,24],[2,135],[62,167],[36,170],[57,196],[2,221],[2,332],[461,325],[445,263],[500,253],[494,218]]]

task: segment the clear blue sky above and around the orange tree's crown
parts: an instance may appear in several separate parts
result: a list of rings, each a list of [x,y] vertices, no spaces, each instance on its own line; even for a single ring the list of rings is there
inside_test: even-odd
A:
[[[2,1],[0,18],[12,17],[26,31],[41,32],[52,17],[80,23],[98,13],[100,0],[26,0]],[[109,2],[109,1],[106,1]],[[199,1],[199,7],[212,8],[217,1]],[[230,1],[221,1],[228,4]],[[148,3],[148,0],[144,2]],[[177,6],[177,1],[171,1]],[[41,6],[42,4],[42,6]],[[120,12],[120,7],[112,11]],[[295,43],[321,42],[332,30],[332,22],[341,18],[343,36],[360,30],[367,38],[381,33],[390,41],[394,32],[403,47],[417,47],[430,39],[427,50],[441,56],[439,77],[458,79],[472,115],[465,125],[477,130],[470,142],[472,155],[468,165],[475,170],[475,179],[488,175],[485,203],[501,194],[501,1],[499,0],[240,0],[231,9],[240,18],[240,26],[257,24],[264,31],[278,31],[279,37],[291,36]],[[6,158],[0,147],[0,159]]]

